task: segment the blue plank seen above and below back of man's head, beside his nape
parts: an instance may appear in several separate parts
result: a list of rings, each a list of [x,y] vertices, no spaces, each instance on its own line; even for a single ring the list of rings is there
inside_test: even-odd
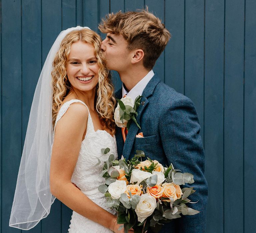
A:
[[[164,23],[164,2],[164,0],[145,0],[145,5],[148,6],[149,11],[160,18],[162,23]],[[153,68],[154,72],[159,76],[162,82],[164,82],[164,53],[165,52],[163,51]]]

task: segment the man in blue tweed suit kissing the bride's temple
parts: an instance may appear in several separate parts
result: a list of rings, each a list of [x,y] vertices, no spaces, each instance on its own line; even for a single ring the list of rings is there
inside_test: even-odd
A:
[[[129,159],[136,150],[143,150],[146,156],[163,165],[172,163],[176,169],[192,173],[196,192],[190,199],[198,202],[191,207],[200,213],[182,215],[165,224],[161,232],[204,232],[207,182],[195,106],[189,98],[162,83],[152,70],[170,39],[169,31],[147,10],[109,14],[99,29],[107,33],[101,45],[107,67],[117,71],[123,82],[116,97],[127,95],[135,100],[143,96],[136,118],[141,130],[132,122],[124,143],[121,128],[117,128],[119,157]],[[144,137],[136,137],[140,132]]]

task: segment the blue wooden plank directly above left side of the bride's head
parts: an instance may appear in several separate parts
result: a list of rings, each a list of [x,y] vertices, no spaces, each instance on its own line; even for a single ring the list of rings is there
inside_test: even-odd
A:
[[[62,30],[76,26],[76,0],[62,0]]]

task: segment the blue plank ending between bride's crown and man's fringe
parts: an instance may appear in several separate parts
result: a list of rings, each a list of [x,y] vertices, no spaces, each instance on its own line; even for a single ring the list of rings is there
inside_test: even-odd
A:
[[[83,0],[83,23],[95,32],[98,32],[99,4],[98,1]]]

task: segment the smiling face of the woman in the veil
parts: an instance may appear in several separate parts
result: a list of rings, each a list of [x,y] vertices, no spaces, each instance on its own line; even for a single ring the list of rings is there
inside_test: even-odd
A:
[[[73,88],[85,92],[93,90],[99,80],[99,66],[94,55],[94,47],[82,41],[73,43],[66,69]]]

